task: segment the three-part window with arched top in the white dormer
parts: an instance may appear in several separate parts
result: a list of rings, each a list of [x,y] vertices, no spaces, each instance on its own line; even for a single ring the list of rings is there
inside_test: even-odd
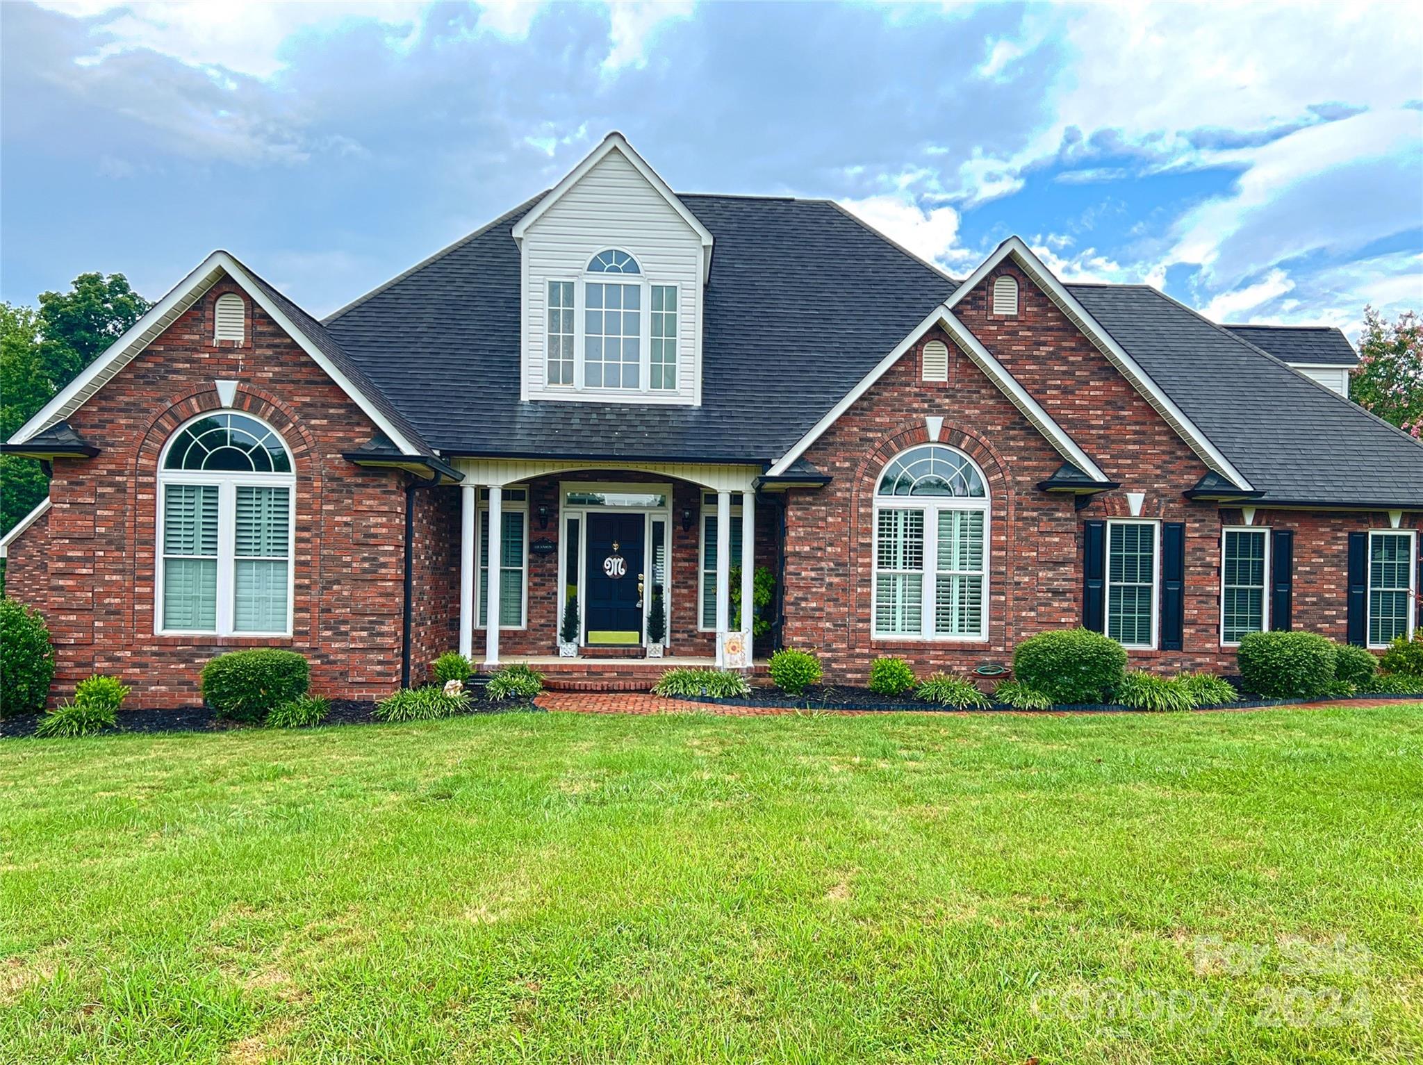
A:
[[[548,384],[676,390],[677,286],[653,283],[628,252],[598,252],[576,283],[551,280],[546,313]]]

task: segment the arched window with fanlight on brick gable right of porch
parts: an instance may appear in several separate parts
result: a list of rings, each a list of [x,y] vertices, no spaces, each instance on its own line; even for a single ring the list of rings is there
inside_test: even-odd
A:
[[[989,495],[968,455],[901,452],[875,485],[874,636],[988,638]]]

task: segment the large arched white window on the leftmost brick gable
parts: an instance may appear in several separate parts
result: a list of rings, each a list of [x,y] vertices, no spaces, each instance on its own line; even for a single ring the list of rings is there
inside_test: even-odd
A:
[[[296,475],[266,422],[213,411],[158,461],[159,633],[290,636]]]

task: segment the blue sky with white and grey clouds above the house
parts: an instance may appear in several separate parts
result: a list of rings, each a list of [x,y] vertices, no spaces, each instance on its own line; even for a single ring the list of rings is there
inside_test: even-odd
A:
[[[837,199],[966,274],[1227,321],[1423,310],[1399,4],[0,4],[0,294],[226,247],[327,313],[620,129],[672,188]]]

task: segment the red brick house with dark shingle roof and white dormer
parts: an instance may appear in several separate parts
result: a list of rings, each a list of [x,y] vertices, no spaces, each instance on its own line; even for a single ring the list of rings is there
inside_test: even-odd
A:
[[[1417,620],[1423,446],[1340,395],[1353,361],[1017,237],[956,280],[830,202],[679,196],[610,134],[320,321],[215,252],[3,445],[53,481],[0,550],[55,692],[149,705],[248,646],[356,697],[450,648],[645,685],[795,646],[848,680],[1076,624],[1229,671],[1252,630]]]

